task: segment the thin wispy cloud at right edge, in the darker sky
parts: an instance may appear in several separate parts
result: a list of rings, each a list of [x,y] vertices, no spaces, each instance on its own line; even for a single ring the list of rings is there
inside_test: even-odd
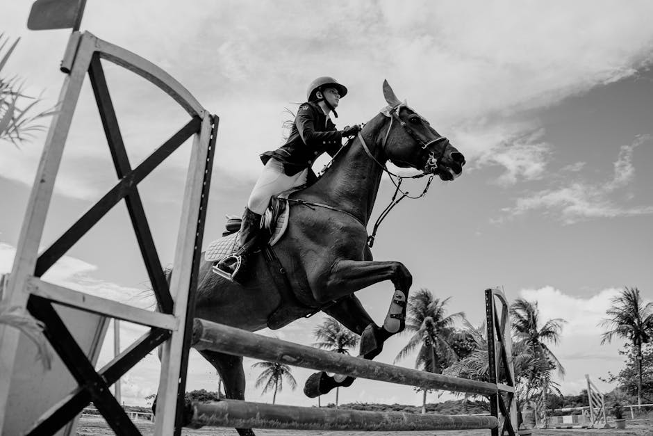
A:
[[[636,147],[651,142],[651,136],[638,136],[631,145],[622,145],[614,162],[613,177],[608,181],[591,182],[578,178],[569,184],[534,191],[515,200],[512,207],[502,209],[509,218],[529,211],[540,210],[565,224],[573,224],[592,218],[616,218],[640,216],[653,213],[653,205],[631,207],[620,204],[615,191],[625,188],[634,180],[635,168],[632,156]],[[567,167],[564,170],[568,170]],[[630,199],[629,195],[626,195]],[[500,222],[500,218],[497,222]]]

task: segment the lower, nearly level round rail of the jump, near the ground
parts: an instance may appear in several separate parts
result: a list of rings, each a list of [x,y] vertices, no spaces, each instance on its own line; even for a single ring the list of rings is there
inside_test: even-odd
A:
[[[411,414],[405,412],[369,412],[248,403],[221,400],[194,403],[193,424],[235,428],[285,428],[288,430],[472,430],[497,428],[495,417],[468,415]]]

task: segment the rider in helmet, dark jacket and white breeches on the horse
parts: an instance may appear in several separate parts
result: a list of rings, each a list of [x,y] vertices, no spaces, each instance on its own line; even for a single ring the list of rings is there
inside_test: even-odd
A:
[[[262,233],[261,216],[270,203],[270,197],[314,181],[311,165],[315,159],[324,152],[333,156],[342,145],[343,137],[354,136],[361,130],[356,124],[337,130],[329,117],[333,112],[338,118],[336,107],[345,95],[347,88],[333,77],[322,76],[311,82],[306,92],[307,102],[299,106],[286,144],[261,154],[265,168],[249,195],[242,216],[240,249],[214,268],[233,280],[242,280],[249,255],[258,246],[258,236]]]

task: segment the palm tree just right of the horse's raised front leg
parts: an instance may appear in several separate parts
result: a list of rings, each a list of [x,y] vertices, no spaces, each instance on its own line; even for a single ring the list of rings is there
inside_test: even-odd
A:
[[[395,363],[418,350],[415,368],[431,373],[442,373],[442,370],[457,360],[458,355],[449,345],[455,332],[454,322],[463,318],[463,312],[446,316],[445,305],[449,298],[440,300],[433,297],[428,289],[420,289],[408,298],[408,316],[404,332],[412,333],[408,344],[399,351]],[[422,389],[422,414],[426,413],[427,389]]]

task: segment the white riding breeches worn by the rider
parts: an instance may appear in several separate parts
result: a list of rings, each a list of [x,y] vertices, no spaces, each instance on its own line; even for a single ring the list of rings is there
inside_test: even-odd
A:
[[[263,215],[272,195],[279,195],[290,188],[305,184],[306,177],[308,177],[308,168],[296,175],[288,176],[283,172],[283,163],[271,158],[265,164],[254,189],[251,190],[247,207],[250,211]]]

